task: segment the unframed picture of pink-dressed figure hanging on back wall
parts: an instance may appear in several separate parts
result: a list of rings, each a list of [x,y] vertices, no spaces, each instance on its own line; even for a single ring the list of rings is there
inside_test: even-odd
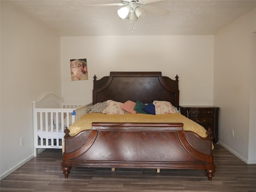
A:
[[[70,60],[71,80],[88,80],[88,70],[86,59]]]

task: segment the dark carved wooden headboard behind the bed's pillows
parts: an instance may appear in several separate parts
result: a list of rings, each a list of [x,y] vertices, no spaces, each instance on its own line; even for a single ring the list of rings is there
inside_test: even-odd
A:
[[[110,72],[96,80],[94,76],[93,104],[114,100],[142,103],[154,100],[169,101],[179,107],[178,76],[176,80],[162,76],[162,72]]]

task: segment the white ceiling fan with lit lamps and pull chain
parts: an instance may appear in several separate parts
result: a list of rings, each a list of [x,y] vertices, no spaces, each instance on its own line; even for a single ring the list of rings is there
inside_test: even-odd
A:
[[[134,22],[138,18],[144,18],[146,11],[151,12],[157,16],[166,16],[170,11],[158,8],[155,6],[148,5],[152,2],[158,2],[161,0],[122,0],[120,3],[111,3],[111,4],[98,4],[98,5],[87,5],[87,6],[124,6],[120,8],[117,13],[118,16],[122,19],[128,19],[132,22],[132,33],[134,30]]]

